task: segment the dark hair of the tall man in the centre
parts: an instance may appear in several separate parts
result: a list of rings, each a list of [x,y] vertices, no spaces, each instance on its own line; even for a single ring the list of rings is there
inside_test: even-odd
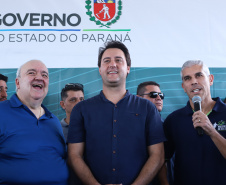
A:
[[[109,41],[104,44],[104,47],[99,48],[98,67],[101,66],[101,58],[102,58],[104,52],[110,48],[117,48],[117,49],[122,50],[125,55],[125,58],[126,58],[127,66],[131,66],[131,59],[130,59],[130,54],[129,54],[128,48],[122,42]]]

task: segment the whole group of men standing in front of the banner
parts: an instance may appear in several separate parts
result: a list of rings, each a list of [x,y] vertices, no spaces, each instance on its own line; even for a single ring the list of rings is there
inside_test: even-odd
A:
[[[84,100],[82,84],[64,86],[62,120],[42,104],[49,85],[42,61],[18,68],[8,100],[0,74],[0,184],[225,185],[226,104],[212,98],[214,76],[202,61],[183,64],[189,101],[165,120],[160,84],[143,82],[136,95],[126,89],[131,58],[123,43],[105,43],[98,68],[100,94]]]

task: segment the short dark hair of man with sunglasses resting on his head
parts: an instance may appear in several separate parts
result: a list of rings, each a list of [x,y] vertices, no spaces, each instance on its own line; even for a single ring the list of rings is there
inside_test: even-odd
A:
[[[64,101],[67,97],[68,91],[82,91],[84,94],[83,85],[80,83],[68,83],[65,85],[65,87],[61,90],[61,100]]]

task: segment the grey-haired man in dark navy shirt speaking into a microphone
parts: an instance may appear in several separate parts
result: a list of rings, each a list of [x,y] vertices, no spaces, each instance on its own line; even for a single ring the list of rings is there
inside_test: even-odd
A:
[[[226,105],[211,98],[213,75],[200,60],[191,60],[181,69],[182,87],[189,101],[164,122],[166,157],[175,153],[175,185],[225,185]],[[201,98],[201,111],[194,112],[192,98]],[[198,134],[201,127],[204,134]]]

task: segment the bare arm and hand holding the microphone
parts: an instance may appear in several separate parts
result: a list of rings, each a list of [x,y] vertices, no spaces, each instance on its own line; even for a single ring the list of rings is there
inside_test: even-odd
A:
[[[193,114],[192,121],[195,128],[202,127],[205,133],[210,136],[221,155],[226,159],[226,139],[216,131],[209,118],[203,112],[197,111]]]

